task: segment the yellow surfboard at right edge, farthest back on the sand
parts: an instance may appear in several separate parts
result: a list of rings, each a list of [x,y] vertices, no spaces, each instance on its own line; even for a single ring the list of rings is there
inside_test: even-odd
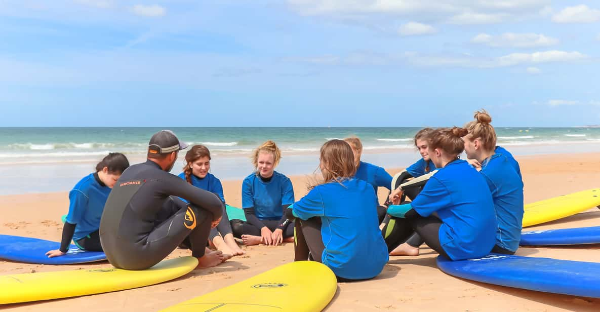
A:
[[[600,188],[525,205],[523,227],[559,220],[600,205]]]

